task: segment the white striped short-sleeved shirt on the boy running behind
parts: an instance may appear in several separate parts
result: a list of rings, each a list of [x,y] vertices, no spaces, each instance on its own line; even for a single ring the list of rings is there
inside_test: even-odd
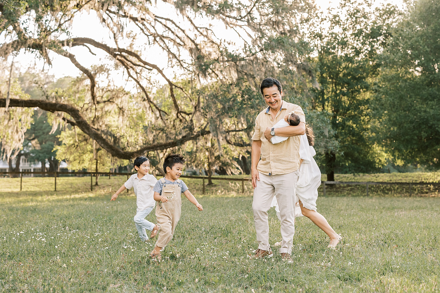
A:
[[[158,182],[158,180],[151,174],[144,175],[141,179],[137,177],[137,174],[133,174],[125,182],[125,188],[133,188],[135,191],[137,205],[136,210],[145,210],[150,206],[156,205],[156,202],[153,198],[153,187],[156,182]]]

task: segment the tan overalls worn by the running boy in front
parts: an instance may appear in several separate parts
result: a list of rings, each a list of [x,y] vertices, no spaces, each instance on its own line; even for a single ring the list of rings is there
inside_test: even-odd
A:
[[[180,219],[182,207],[182,194],[180,184],[182,181],[176,180],[179,184],[165,184],[165,178],[160,179],[163,185],[162,196],[168,198],[168,202],[158,202],[156,205],[156,218],[158,225],[161,226],[156,246],[165,247],[171,241],[174,229]]]

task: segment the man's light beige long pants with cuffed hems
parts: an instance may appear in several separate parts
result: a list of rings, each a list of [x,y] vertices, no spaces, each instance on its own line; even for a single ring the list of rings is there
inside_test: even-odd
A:
[[[281,217],[281,248],[280,253],[292,253],[293,235],[295,235],[295,188],[298,170],[279,175],[259,173],[260,181],[253,190],[253,220],[257,232],[258,248],[269,250],[268,210],[274,195],[276,196]]]

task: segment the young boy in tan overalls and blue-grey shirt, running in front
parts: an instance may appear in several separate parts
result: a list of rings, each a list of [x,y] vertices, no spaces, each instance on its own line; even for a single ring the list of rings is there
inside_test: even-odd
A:
[[[180,219],[180,210],[183,193],[187,199],[193,203],[198,210],[203,210],[201,204],[197,202],[194,195],[188,190],[187,185],[179,179],[182,175],[183,163],[185,158],[180,154],[168,154],[164,160],[165,178],[161,178],[154,185],[154,200],[156,205],[156,218],[159,225],[159,236],[154,250],[151,251],[153,260],[161,261],[161,251],[171,241],[174,229]]]

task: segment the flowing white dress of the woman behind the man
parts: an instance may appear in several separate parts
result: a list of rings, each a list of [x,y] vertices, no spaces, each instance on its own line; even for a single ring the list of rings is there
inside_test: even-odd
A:
[[[296,188],[296,200],[306,209],[316,210],[316,199],[318,199],[318,187],[321,185],[321,171],[316,164],[313,156],[316,155],[315,149],[308,145],[307,135],[301,135],[300,158],[304,161],[301,163],[299,170],[299,178]],[[271,206],[275,206],[275,210],[279,212],[278,203],[274,196]],[[299,203],[295,206],[295,217],[301,217],[301,208]]]

